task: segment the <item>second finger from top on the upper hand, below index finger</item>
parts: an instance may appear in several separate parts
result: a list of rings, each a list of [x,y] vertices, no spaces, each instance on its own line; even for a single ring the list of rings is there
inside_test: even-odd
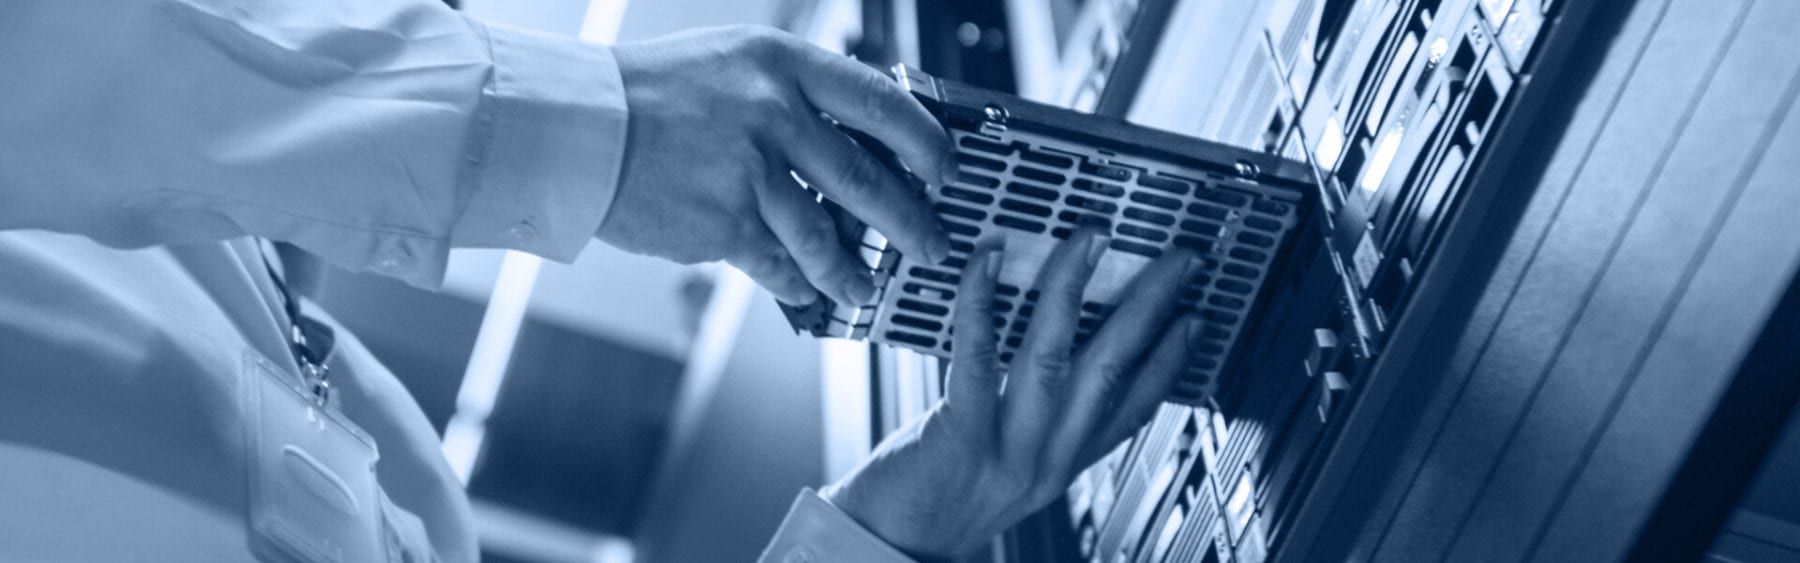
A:
[[[824,119],[799,119],[788,162],[814,189],[857,216],[902,252],[936,264],[950,257],[950,237],[916,189],[900,182],[868,149]]]

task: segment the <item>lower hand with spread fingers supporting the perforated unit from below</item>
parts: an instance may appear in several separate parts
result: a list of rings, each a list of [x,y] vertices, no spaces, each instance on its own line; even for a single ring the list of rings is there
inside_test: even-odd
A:
[[[1051,254],[1008,372],[994,329],[1001,255],[977,252],[958,290],[945,399],[826,487],[826,500],[911,556],[954,558],[1055,500],[1075,471],[1136,432],[1201,335],[1197,315],[1170,320],[1199,257],[1174,250],[1150,264],[1075,349],[1082,291],[1107,243],[1084,230]]]

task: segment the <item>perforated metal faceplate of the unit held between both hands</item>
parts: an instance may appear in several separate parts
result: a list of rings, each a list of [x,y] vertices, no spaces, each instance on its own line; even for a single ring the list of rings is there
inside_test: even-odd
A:
[[[920,92],[920,77],[911,79]],[[923,88],[941,94],[929,77],[923,81]],[[1199,403],[1211,396],[1255,317],[1285,241],[1305,221],[1303,180],[1283,167],[1282,182],[1260,182],[1269,173],[1253,162],[1271,160],[1251,151],[1181,139],[1204,146],[1208,155],[1161,158],[1150,155],[1166,153],[1130,151],[1143,139],[1107,139],[1100,147],[1094,139],[1060,135],[1069,122],[1026,124],[995,103],[959,112],[947,104],[954,101],[927,97],[927,106],[943,117],[956,142],[961,178],[927,185],[925,194],[950,234],[952,257],[943,264],[911,261],[887,248],[880,234],[866,230],[859,250],[875,270],[880,300],[860,309],[790,311],[796,327],[949,358],[961,268],[977,246],[1003,246],[995,327],[1001,362],[1010,363],[1030,326],[1037,300],[1031,288],[1049,252],[1082,225],[1098,225],[1109,230],[1112,243],[1084,295],[1076,345],[1093,335],[1154,257],[1174,246],[1201,250],[1204,263],[1183,291],[1181,309],[1199,311],[1208,324],[1170,399]],[[1031,112],[1067,110],[1033,106]],[[1076,124],[1098,119],[1067,113]],[[970,119],[974,115],[983,119]],[[1121,122],[1105,126],[1114,130],[1082,133],[1148,133]],[[1156,135],[1145,137],[1154,140]]]

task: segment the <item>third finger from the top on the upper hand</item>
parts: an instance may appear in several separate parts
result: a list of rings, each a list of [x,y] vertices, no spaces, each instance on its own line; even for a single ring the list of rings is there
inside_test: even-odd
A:
[[[850,248],[837,237],[837,223],[824,207],[787,173],[769,174],[769,185],[760,192],[758,207],[763,223],[799,266],[799,272],[837,302],[868,304],[875,300],[875,281]]]

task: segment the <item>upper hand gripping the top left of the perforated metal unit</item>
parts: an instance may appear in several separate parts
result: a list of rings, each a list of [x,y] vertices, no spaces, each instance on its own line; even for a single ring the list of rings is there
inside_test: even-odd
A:
[[[788,304],[875,299],[869,268],[799,183],[929,263],[950,255],[909,189],[821,113],[891,147],[920,178],[956,173],[950,139],[880,70],[756,29],[614,49],[630,110],[617,200],[598,237],[679,263],[727,261]]]

